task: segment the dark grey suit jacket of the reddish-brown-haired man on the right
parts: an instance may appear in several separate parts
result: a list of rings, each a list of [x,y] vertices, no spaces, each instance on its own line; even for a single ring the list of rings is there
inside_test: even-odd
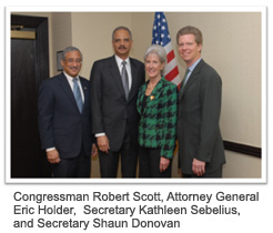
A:
[[[178,140],[183,173],[192,174],[194,158],[206,162],[206,173],[225,163],[219,126],[221,99],[221,78],[201,59],[179,93]]]

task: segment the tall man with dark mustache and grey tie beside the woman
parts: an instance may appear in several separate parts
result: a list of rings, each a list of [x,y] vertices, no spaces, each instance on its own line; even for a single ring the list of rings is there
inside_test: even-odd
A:
[[[129,58],[132,44],[128,28],[114,29],[112,45],[115,54],[95,61],[91,70],[92,130],[98,142],[102,178],[117,178],[120,155],[122,176],[135,178],[139,149],[136,98],[145,75],[144,64]]]

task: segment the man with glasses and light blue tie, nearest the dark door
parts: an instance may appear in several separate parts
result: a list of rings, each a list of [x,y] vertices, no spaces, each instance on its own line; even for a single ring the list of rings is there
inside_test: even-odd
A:
[[[91,154],[97,154],[91,133],[90,83],[78,75],[81,62],[79,49],[65,48],[63,72],[44,80],[39,90],[40,138],[53,178],[90,178]]]

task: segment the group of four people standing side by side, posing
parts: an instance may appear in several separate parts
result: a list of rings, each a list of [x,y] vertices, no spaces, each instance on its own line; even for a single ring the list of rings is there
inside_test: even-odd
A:
[[[199,29],[182,28],[176,42],[188,68],[180,90],[163,75],[164,48],[149,47],[144,64],[129,57],[125,27],[113,30],[114,55],[93,63],[90,82],[79,77],[80,50],[63,50],[63,72],[39,91],[41,144],[54,178],[90,178],[98,150],[101,178],[117,178],[120,158],[122,178],[135,178],[138,161],[139,178],[171,178],[176,139],[183,178],[222,178],[221,78],[201,58]]]

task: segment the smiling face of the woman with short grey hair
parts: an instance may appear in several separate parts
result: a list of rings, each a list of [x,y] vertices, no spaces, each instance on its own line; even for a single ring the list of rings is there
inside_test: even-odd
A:
[[[149,78],[161,78],[164,63],[161,63],[159,55],[150,53],[145,59],[145,71]]]

